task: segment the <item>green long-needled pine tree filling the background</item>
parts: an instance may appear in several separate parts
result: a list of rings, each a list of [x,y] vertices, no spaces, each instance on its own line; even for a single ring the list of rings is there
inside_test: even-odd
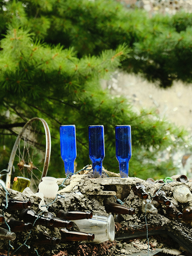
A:
[[[118,172],[114,127],[129,124],[130,176],[159,178],[177,172],[171,159],[158,163],[157,158],[168,146],[180,150],[187,143],[185,130],[160,120],[153,110],[138,115],[125,98],[112,99],[103,91],[100,81],[123,68],[163,87],[176,79],[190,82],[190,75],[173,63],[181,61],[181,52],[175,59],[181,48],[188,56],[183,63],[190,58],[189,20],[150,20],[114,1],[85,0],[1,2],[0,20],[1,169],[9,161],[18,127],[37,116],[51,130],[49,176],[64,176],[59,143],[59,125],[64,124],[76,125],[77,169],[91,163],[87,126],[103,124],[103,165]],[[186,74],[190,69],[188,64]]]

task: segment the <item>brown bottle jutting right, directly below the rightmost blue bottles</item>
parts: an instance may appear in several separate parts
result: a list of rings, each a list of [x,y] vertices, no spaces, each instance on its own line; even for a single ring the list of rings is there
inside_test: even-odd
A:
[[[111,200],[105,199],[103,201],[103,205],[105,206],[106,212],[112,212],[116,214],[128,214],[128,215],[135,214],[134,208],[128,208],[124,205],[113,203]]]

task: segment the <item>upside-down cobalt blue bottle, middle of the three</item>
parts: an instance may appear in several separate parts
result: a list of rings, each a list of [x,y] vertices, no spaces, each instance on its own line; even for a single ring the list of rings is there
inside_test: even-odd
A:
[[[89,125],[89,158],[92,162],[93,174],[95,178],[102,175],[102,162],[105,157],[104,126]]]

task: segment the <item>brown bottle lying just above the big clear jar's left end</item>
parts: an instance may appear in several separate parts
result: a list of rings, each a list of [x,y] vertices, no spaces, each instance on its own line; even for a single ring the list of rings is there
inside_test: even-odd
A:
[[[92,219],[93,213],[92,212],[81,212],[81,211],[63,211],[59,210],[57,214],[58,218],[63,218],[67,220],[78,220],[78,219]]]

